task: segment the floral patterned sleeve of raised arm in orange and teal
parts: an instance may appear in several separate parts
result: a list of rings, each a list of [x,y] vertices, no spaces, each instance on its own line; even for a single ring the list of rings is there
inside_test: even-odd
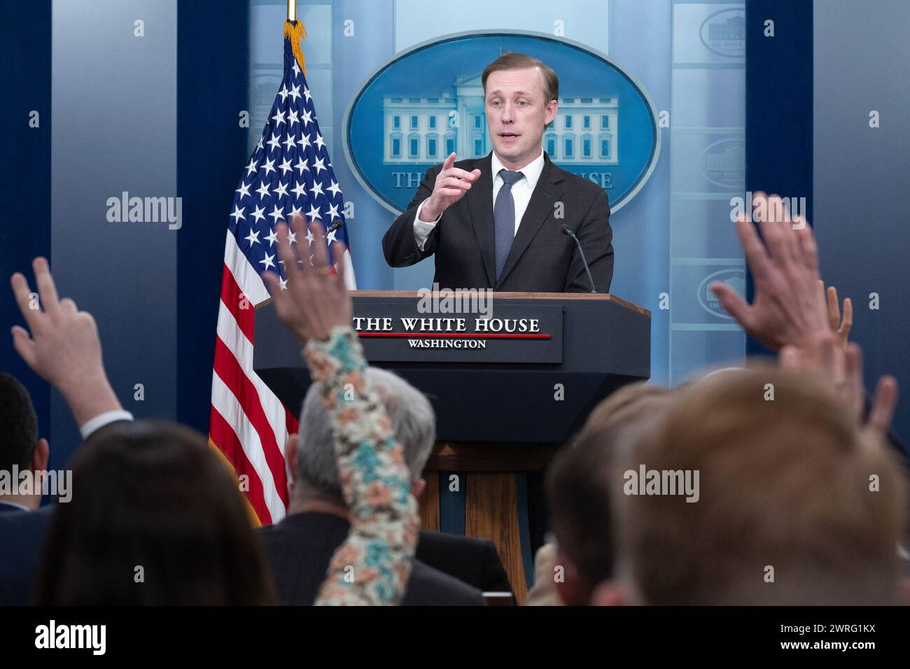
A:
[[[397,604],[410,577],[420,518],[401,444],[375,390],[353,329],[336,327],[303,350],[331,415],[339,480],[351,518],[316,605]]]

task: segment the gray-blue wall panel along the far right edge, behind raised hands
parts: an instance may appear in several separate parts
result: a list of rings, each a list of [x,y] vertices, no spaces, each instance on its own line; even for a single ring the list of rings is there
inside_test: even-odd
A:
[[[894,426],[910,435],[907,156],[910,155],[910,3],[816,0],[815,236],[825,281],[854,304],[851,339],[863,348],[865,387],[900,384]],[[870,113],[880,115],[870,126]],[[878,309],[870,297],[879,297]],[[907,444],[905,443],[905,449]]]

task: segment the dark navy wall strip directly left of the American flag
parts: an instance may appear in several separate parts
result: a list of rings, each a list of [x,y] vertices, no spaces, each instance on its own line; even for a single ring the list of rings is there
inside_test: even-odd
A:
[[[239,125],[249,108],[248,41],[248,2],[177,4],[177,193],[187,221],[177,237],[177,420],[204,433],[227,212],[249,157]]]

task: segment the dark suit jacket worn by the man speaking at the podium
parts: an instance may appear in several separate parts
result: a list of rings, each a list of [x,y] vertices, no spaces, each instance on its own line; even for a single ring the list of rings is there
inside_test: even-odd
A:
[[[567,225],[581,241],[595,289],[608,292],[613,276],[613,233],[607,196],[591,181],[553,165],[546,153],[541,177],[531,193],[500,279],[496,279],[491,156],[455,163],[455,167],[469,172],[479,168],[480,179],[443,212],[421,251],[414,240],[414,217],[418,205],[432,194],[442,166],[427,170],[408,210],[382,238],[389,265],[407,267],[436,254],[433,280],[440,288],[591,292],[578,248],[561,231]],[[562,218],[556,218],[560,213],[557,203],[562,204]]]

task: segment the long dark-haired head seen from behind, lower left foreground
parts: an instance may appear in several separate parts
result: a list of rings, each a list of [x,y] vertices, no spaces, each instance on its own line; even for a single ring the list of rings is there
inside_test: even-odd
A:
[[[238,484],[206,438],[114,423],[77,451],[45,542],[43,604],[274,600]]]

